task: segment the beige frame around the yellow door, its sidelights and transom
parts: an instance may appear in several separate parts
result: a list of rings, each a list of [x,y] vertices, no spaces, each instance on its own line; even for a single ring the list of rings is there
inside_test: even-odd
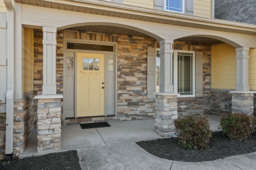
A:
[[[113,46],[113,52],[111,51],[92,51],[92,50],[78,50],[78,49],[67,49],[67,42],[70,43],[84,43],[84,44],[95,44],[95,45],[110,45]],[[115,86],[114,86],[114,92],[115,92],[115,97],[114,97],[114,115],[108,115],[108,116],[117,116],[117,43],[115,42],[107,42],[107,41],[93,41],[93,40],[81,40],[81,39],[70,39],[70,38],[64,38],[63,39],[63,119],[66,119],[66,69],[67,69],[67,64],[66,64],[66,52],[72,52],[74,53],[74,76],[75,76],[75,84],[74,84],[74,118],[77,118],[77,108],[76,108],[76,100],[77,100],[77,53],[94,53],[94,54],[105,54],[105,82],[107,80],[107,55],[115,55],[114,59],[114,79],[115,79]],[[106,113],[106,107],[107,107],[107,95],[106,95],[105,90],[105,117],[107,116]]]

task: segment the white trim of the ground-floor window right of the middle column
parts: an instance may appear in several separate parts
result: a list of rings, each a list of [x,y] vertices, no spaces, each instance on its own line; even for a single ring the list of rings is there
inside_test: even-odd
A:
[[[195,63],[195,51],[185,51],[185,50],[174,50],[174,93],[178,93],[178,52],[182,53],[193,53],[193,95],[178,95],[178,98],[186,98],[186,97],[195,97],[196,95],[196,63]]]

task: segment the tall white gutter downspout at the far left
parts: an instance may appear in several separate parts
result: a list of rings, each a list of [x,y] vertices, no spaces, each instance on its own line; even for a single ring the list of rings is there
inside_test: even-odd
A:
[[[8,161],[13,155],[14,119],[14,7],[11,0],[4,0],[7,8],[7,92],[5,154]]]

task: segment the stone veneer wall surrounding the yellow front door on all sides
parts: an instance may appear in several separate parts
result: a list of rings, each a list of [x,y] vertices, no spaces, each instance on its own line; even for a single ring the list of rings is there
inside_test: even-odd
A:
[[[42,30],[34,29],[34,94],[42,94]],[[118,43],[118,115],[111,117],[90,117],[66,119],[66,124],[80,122],[100,122],[114,120],[134,120],[154,118],[154,99],[146,95],[147,47],[156,47],[156,39],[150,37],[130,37],[127,35],[57,31],[56,85],[57,94],[63,94],[63,38],[108,41]],[[62,102],[63,108],[63,102]],[[62,111],[63,115],[63,111]]]

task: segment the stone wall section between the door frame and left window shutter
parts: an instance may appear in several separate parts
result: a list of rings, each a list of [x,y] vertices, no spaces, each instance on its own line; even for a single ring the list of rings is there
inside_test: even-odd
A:
[[[118,35],[117,107],[120,120],[155,117],[155,100],[147,99],[147,47],[156,39]]]

